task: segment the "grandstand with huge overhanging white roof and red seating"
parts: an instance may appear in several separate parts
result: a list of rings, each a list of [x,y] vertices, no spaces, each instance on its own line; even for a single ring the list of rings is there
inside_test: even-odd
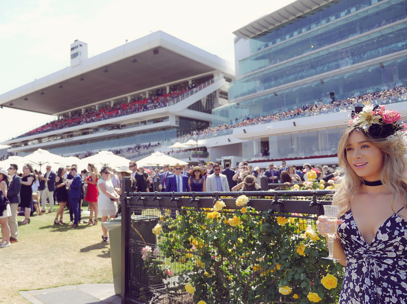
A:
[[[211,126],[211,110],[228,102],[234,80],[232,64],[162,31],[94,57],[80,54],[71,66],[0,95],[2,106],[56,116],[5,141],[9,152],[149,147],[132,152],[142,156],[158,142]]]

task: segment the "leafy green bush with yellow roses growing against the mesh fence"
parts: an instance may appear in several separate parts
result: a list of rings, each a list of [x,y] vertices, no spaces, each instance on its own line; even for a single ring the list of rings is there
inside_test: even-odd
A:
[[[247,197],[233,210],[217,200],[204,211],[184,207],[159,223],[160,255],[182,265],[171,267],[179,293],[208,304],[337,302],[343,269],[322,259],[326,241],[314,220],[256,211]]]

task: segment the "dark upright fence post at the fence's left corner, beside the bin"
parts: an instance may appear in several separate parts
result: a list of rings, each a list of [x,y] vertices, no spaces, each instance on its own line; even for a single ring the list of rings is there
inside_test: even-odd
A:
[[[121,264],[121,283],[122,283],[122,290],[121,290],[121,297],[122,297],[122,304],[126,304],[126,296],[129,294],[129,225],[130,225],[130,212],[127,211],[127,194],[131,192],[131,180],[129,177],[124,177],[122,180],[122,196],[120,198],[122,202],[122,248],[121,248],[121,257],[122,257],[122,264]]]

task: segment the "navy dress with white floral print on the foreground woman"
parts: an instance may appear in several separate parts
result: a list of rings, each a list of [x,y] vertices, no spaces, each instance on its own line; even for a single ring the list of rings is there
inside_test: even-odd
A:
[[[385,220],[371,244],[352,211],[341,217],[338,234],[347,259],[340,304],[407,303],[407,221],[397,213]]]

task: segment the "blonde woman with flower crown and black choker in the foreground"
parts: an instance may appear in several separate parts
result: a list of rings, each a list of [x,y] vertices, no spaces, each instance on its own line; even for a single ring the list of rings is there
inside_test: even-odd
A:
[[[338,146],[344,176],[334,256],[346,265],[339,303],[407,299],[407,124],[395,110],[364,104],[351,114]],[[327,238],[327,219],[317,229]]]

